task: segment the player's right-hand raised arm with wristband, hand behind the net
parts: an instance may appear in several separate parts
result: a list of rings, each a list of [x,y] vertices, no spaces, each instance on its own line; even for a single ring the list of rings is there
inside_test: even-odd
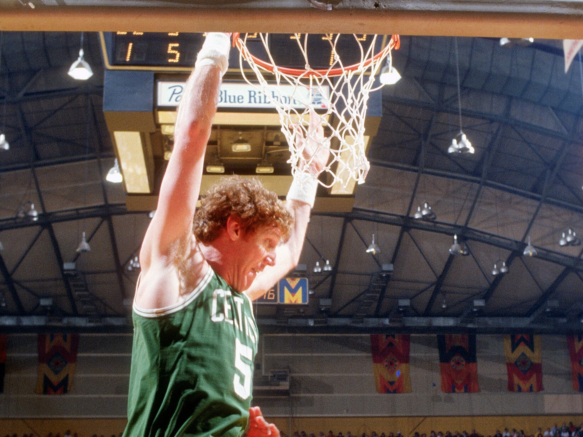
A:
[[[310,221],[310,211],[314,206],[318,188],[317,177],[313,175],[319,174],[324,169],[330,156],[329,143],[324,138],[320,118],[314,111],[310,112],[309,130],[308,138],[304,139],[300,134],[300,129],[296,129],[296,142],[305,141],[305,146],[302,148],[304,163],[300,163],[299,166],[300,169],[304,169],[304,173],[296,173],[287,193],[286,208],[294,218],[289,240],[277,247],[275,265],[265,267],[264,271],[257,274],[250,288],[245,292],[251,300],[262,296],[300,261],[305,231]],[[306,162],[310,162],[310,165],[305,165]]]

